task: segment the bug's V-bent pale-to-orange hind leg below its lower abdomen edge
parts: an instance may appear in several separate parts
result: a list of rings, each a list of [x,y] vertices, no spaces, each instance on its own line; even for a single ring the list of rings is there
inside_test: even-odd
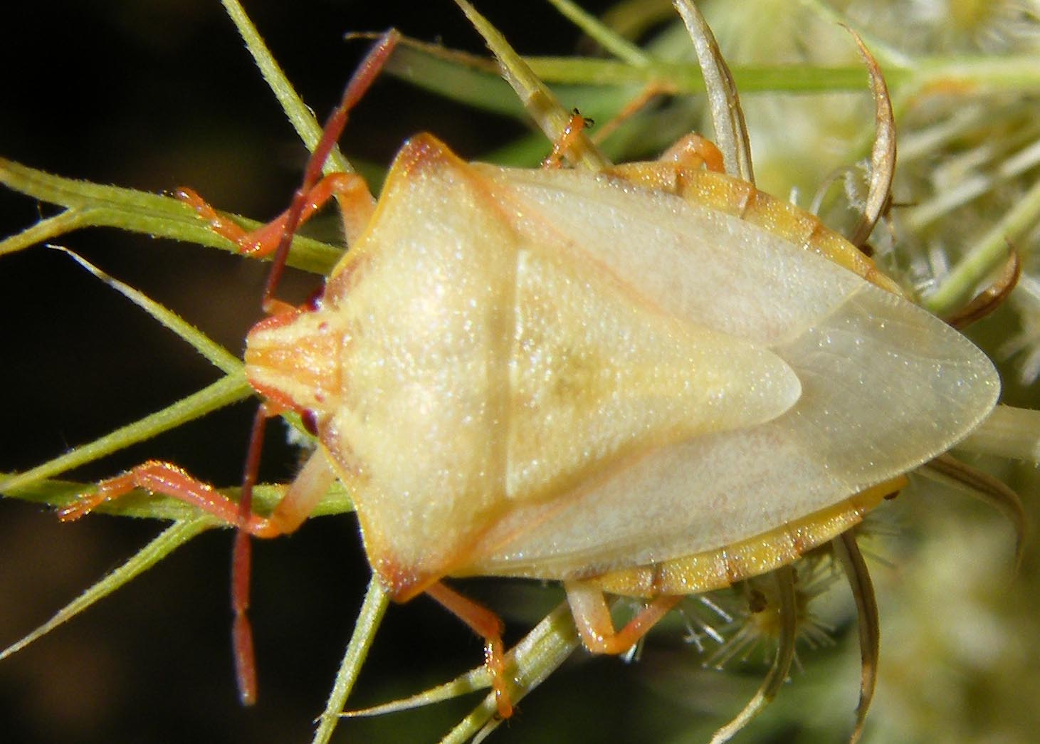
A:
[[[601,590],[581,582],[564,582],[564,589],[567,590],[567,601],[571,606],[571,614],[574,615],[581,642],[594,653],[625,652],[682,598],[678,594],[658,596],[623,628],[615,631],[610,610]]]

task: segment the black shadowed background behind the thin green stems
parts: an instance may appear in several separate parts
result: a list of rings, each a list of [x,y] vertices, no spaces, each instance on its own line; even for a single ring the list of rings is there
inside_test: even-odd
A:
[[[394,25],[426,41],[483,50],[448,0],[254,0],[245,6],[319,118],[338,100],[366,47],[344,42],[346,31]],[[486,2],[483,8],[524,52],[567,53],[577,43],[577,32],[547,3]],[[23,5],[5,26],[2,156],[144,190],[190,185],[220,208],[257,219],[287,205],[306,153],[216,0],[44,1]],[[471,158],[522,128],[389,80],[357,109],[342,143],[348,156],[385,164],[406,137],[422,130]],[[0,193],[0,234],[27,227],[41,212],[53,208]],[[61,243],[181,313],[233,353],[241,352],[246,330],[261,316],[265,271],[257,263],[108,229],[74,233]],[[283,294],[303,297],[315,284],[311,276],[296,277]],[[0,259],[0,303],[6,432],[0,471],[35,465],[216,379],[146,313],[68,256],[42,246]],[[244,452],[253,410],[251,402],[219,411],[73,476],[96,480],[160,458],[213,483],[234,484],[241,465],[228,453]],[[295,466],[281,436],[279,427],[268,436],[269,479],[286,480]],[[0,645],[46,620],[160,530],[152,521],[104,516],[62,525],[46,509],[17,502],[2,508]],[[348,517],[315,520],[292,538],[256,544],[252,617],[260,701],[253,710],[237,702],[229,650],[230,546],[226,532],[204,535],[0,663],[0,739],[309,741],[368,580],[356,523]],[[467,591],[479,597],[487,584]],[[513,638],[561,599],[554,588],[529,589],[518,589],[530,605],[511,625]],[[508,598],[496,601],[509,606]],[[354,703],[415,692],[482,658],[478,639],[432,602],[393,607]],[[620,666],[610,660],[600,670]],[[511,725],[513,736],[528,741],[524,730],[544,730],[538,717],[561,713],[562,689],[575,705],[565,712],[566,723],[553,724],[564,740],[595,736],[589,723],[619,733],[632,690],[623,681],[618,688],[607,683],[609,675],[601,672],[549,683],[541,703],[532,698],[523,705]],[[340,736],[428,741],[476,699],[372,727],[347,723]]]

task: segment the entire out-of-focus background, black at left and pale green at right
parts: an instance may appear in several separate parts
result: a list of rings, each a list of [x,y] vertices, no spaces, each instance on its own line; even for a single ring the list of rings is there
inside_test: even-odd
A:
[[[636,41],[657,45],[650,48],[660,54],[682,49],[667,2],[581,4],[597,15],[614,8],[619,23],[660,8],[659,21],[634,29]],[[598,53],[548,3],[477,6],[524,54]],[[419,40],[483,53],[480,40],[447,0],[257,0],[245,7],[319,117],[338,99],[365,47],[344,42],[345,31],[393,25]],[[920,60],[937,60],[952,70],[957,63],[978,70],[985,60],[1031,55],[1040,61],[1037,5],[850,0],[830,7],[866,36],[890,75],[900,128],[898,205],[890,223],[876,231],[876,247],[901,280],[927,291],[1035,185],[1040,82],[987,84],[984,77],[970,85],[913,91],[895,68],[924,69]],[[833,19],[804,4],[747,0],[704,3],[704,10],[737,69],[859,65]],[[9,41],[0,47],[3,156],[150,191],[190,185],[220,208],[257,219],[287,204],[305,151],[215,1],[45,1],[24,7],[8,30]],[[573,96],[564,96],[565,105],[603,123],[596,110],[599,88],[566,89]],[[615,92],[610,105],[638,93],[638,86]],[[854,92],[745,93],[743,100],[765,190],[794,193],[805,206],[836,169],[867,152],[873,105],[865,72]],[[660,98],[641,116],[615,146],[629,157],[652,156],[682,132],[705,127],[694,97]],[[387,79],[357,109],[342,145],[352,159],[385,166],[405,138],[423,130],[467,158],[509,151],[528,132],[516,119]],[[831,210],[840,221],[838,211]],[[52,213],[32,200],[0,194],[3,235],[41,212]],[[334,216],[326,230],[335,234]],[[234,353],[260,315],[265,272],[254,262],[114,230],[77,233],[62,242]],[[1022,286],[1006,308],[972,330],[1000,365],[1006,400],[1030,408],[1038,407],[1040,359],[1036,245],[1035,228],[1016,241],[1025,267]],[[0,389],[8,432],[0,471],[25,469],[214,379],[193,352],[67,256],[37,247],[0,260]],[[313,276],[294,275],[284,293],[302,299],[314,286]],[[75,474],[94,480],[158,457],[214,483],[235,483],[252,410],[251,403],[220,411]],[[264,477],[286,480],[296,456],[274,429]],[[976,464],[1015,487],[1036,522],[1032,464]],[[157,531],[154,522],[108,517],[59,525],[49,511],[12,502],[2,509],[0,644],[45,620]],[[1040,728],[1040,578],[1033,544],[1013,574],[1013,535],[999,515],[924,482],[882,511],[865,543],[874,556],[883,632],[866,740],[1033,741]],[[309,740],[368,578],[356,523],[312,520],[292,538],[256,545],[253,620],[261,696],[255,710],[241,709],[234,691],[226,609],[229,547],[227,533],[202,536],[0,664],[5,740]],[[505,616],[514,640],[562,598],[556,587],[516,582],[482,580],[465,589]],[[688,607],[692,615],[725,624],[710,611]],[[840,582],[814,612],[834,644],[800,647],[801,669],[743,741],[839,741],[851,730],[859,652],[854,608]],[[579,651],[524,700],[497,740],[705,740],[752,694],[770,655],[758,648],[722,671],[705,669],[706,657],[684,644],[683,635],[682,623],[673,619],[650,635],[630,664]],[[708,642],[706,655],[713,650]],[[479,641],[433,602],[393,607],[353,704],[416,692],[479,658]],[[472,702],[349,721],[339,737],[431,741]]]

